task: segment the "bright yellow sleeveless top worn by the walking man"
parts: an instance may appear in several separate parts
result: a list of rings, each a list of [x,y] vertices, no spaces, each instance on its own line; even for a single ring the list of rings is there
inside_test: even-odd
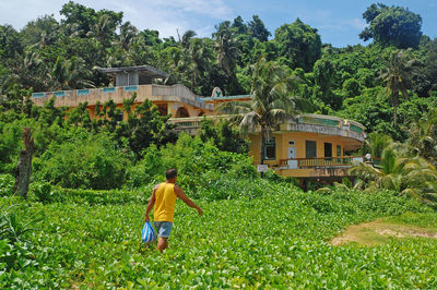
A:
[[[173,222],[176,200],[175,184],[166,182],[161,183],[155,192],[154,220]]]

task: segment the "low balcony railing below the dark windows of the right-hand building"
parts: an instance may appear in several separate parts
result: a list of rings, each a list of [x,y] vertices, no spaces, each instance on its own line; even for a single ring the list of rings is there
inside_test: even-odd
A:
[[[287,167],[290,169],[334,168],[334,167],[352,167],[359,162],[366,162],[373,166],[379,166],[380,159],[375,157],[370,157],[369,159],[367,159],[365,156],[288,158],[288,159],[281,159],[280,167]]]

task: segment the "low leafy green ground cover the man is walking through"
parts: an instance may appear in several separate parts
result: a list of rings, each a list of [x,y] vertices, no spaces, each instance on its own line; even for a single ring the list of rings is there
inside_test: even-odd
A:
[[[201,218],[178,202],[164,254],[141,242],[144,195],[125,194],[131,198],[117,193],[114,203],[110,192],[95,203],[3,197],[5,219],[42,220],[27,226],[35,229],[21,241],[0,244],[0,287],[437,287],[437,239],[331,244],[350,225],[381,217],[426,229],[437,225],[435,212],[391,193],[320,195],[291,189],[257,198],[200,200]],[[11,203],[17,206],[4,210]]]

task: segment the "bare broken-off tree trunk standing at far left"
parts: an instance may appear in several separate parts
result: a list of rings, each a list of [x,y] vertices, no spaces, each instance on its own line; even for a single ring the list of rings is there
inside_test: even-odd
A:
[[[32,173],[32,155],[34,154],[34,140],[31,136],[31,129],[23,130],[25,149],[20,152],[19,164],[16,165],[14,194],[27,198],[28,183]]]

